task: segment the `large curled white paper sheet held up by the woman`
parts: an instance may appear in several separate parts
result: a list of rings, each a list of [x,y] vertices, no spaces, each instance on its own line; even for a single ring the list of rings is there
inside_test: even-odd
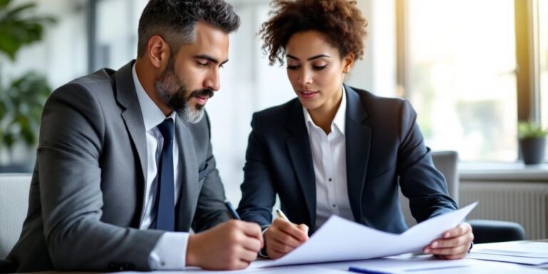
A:
[[[440,238],[445,230],[460,223],[476,205],[477,202],[452,213],[430,218],[402,234],[375,230],[333,215],[292,252],[278,260],[254,262],[251,267],[364,260],[420,252],[432,240]]]

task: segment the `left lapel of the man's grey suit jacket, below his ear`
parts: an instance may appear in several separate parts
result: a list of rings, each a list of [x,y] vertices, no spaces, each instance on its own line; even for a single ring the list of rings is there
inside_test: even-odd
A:
[[[146,153],[146,132],[143,123],[143,113],[137,98],[135,85],[133,83],[132,67],[134,61],[129,62],[115,73],[116,81],[116,101],[122,106],[122,118],[126,124],[127,131],[131,138],[133,149],[138,154],[138,170],[141,171],[141,183],[138,183],[136,188],[137,193],[142,197],[138,197],[136,201],[141,201],[141,206],[138,207],[138,216],[141,216],[143,210],[142,201],[144,199],[144,190],[146,184],[146,168],[147,168],[147,153]]]

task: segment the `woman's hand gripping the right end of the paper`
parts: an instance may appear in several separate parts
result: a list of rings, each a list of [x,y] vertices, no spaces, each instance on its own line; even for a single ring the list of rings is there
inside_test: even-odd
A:
[[[460,223],[455,228],[443,233],[442,238],[432,240],[430,245],[422,249],[423,253],[438,255],[445,260],[465,258],[474,240],[472,227],[468,223]]]

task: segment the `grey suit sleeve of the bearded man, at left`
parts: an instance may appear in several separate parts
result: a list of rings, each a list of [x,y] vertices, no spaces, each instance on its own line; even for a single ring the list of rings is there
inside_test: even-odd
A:
[[[68,83],[44,107],[37,161],[43,233],[56,270],[149,270],[162,232],[101,222],[105,119],[95,94]],[[123,172],[123,171],[121,171]]]

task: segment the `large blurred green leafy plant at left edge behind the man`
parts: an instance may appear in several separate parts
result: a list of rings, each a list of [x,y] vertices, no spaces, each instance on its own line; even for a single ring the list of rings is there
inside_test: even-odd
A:
[[[14,147],[34,148],[37,142],[41,111],[51,93],[46,78],[33,71],[2,81],[1,64],[5,59],[16,61],[17,52],[24,46],[41,41],[44,26],[56,20],[50,16],[35,16],[36,4],[11,4],[0,0],[0,156],[13,159]],[[11,156],[11,157],[10,157]],[[1,159],[1,158],[0,158]],[[9,163],[0,171],[29,171],[32,163]]]

